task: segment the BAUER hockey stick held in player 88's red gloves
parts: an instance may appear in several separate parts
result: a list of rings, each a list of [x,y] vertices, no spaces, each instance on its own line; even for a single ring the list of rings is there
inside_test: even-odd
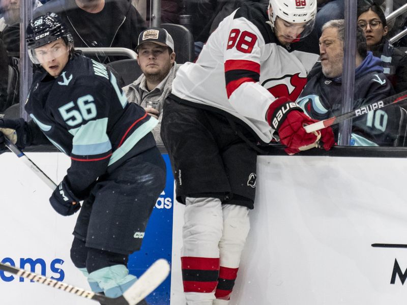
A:
[[[325,127],[341,123],[347,119],[354,118],[363,114],[367,114],[370,111],[375,111],[377,109],[381,109],[384,107],[387,107],[389,105],[405,101],[407,100],[407,91],[404,91],[402,93],[396,94],[394,96],[388,97],[386,99],[383,99],[381,101],[373,102],[369,105],[360,107],[358,109],[339,114],[338,116],[333,116],[327,119],[324,119],[322,121],[318,121],[316,123],[304,126],[304,129],[307,133],[314,132],[320,129],[323,129]]]

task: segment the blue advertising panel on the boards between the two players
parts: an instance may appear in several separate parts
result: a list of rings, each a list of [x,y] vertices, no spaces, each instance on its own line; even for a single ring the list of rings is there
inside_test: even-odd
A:
[[[159,258],[171,264],[172,252],[172,211],[174,178],[167,154],[163,154],[167,177],[164,192],[157,200],[144,235],[140,251],[130,255],[128,268],[132,275],[140,276]],[[171,277],[168,278],[146,300],[155,305],[169,305]]]

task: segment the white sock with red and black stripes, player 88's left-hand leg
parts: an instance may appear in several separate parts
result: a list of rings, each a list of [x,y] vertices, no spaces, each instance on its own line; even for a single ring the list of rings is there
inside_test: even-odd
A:
[[[186,198],[181,266],[187,305],[213,305],[219,275],[222,204],[216,198]]]

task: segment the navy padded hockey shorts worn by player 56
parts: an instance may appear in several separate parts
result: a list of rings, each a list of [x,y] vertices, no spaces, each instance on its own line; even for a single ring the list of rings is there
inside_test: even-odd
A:
[[[141,247],[147,222],[165,186],[157,147],[99,177],[79,212],[73,235],[86,247],[131,254]]]

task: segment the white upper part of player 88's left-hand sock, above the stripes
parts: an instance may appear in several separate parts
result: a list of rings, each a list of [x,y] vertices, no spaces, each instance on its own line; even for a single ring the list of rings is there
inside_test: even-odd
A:
[[[186,198],[182,256],[219,257],[222,203],[217,198]]]

